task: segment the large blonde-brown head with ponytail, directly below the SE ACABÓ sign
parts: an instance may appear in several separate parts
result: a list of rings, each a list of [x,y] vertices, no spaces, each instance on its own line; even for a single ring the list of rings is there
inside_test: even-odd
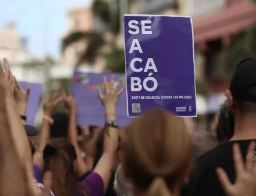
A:
[[[180,188],[193,159],[183,119],[160,109],[133,120],[123,150],[126,178],[131,179],[134,193],[147,195],[171,195]]]

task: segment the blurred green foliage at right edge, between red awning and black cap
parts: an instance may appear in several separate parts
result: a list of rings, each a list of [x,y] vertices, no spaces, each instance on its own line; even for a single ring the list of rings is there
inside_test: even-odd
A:
[[[225,73],[230,76],[236,64],[244,58],[256,54],[256,25],[247,32],[232,37],[231,43],[225,51]]]

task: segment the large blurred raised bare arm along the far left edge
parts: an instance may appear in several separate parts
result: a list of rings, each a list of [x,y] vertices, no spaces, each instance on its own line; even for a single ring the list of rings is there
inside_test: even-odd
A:
[[[11,86],[0,68],[0,195],[25,195],[23,168],[11,136],[7,103],[13,100]]]

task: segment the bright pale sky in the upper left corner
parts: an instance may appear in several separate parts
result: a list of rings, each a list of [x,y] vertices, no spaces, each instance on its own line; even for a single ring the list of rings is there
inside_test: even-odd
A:
[[[67,26],[67,8],[90,3],[91,0],[1,1],[0,29],[8,21],[15,21],[20,34],[27,38],[32,54],[44,57],[48,53],[57,58],[60,56],[60,37]]]

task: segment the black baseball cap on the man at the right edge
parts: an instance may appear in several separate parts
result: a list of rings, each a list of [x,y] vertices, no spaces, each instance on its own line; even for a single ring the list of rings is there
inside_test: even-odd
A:
[[[237,100],[256,103],[256,92],[250,92],[253,86],[256,88],[256,58],[246,58],[234,70],[229,90]]]

